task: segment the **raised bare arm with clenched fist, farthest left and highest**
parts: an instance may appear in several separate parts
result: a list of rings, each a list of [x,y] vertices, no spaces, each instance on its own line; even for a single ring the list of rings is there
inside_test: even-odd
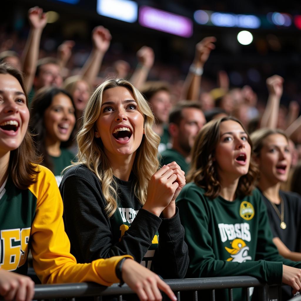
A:
[[[33,86],[33,79],[36,73],[36,64],[39,58],[39,47],[42,31],[47,23],[47,15],[42,8],[35,6],[28,11],[30,25],[29,35],[25,49],[22,53],[22,69],[25,75],[24,83],[26,92],[29,93]]]

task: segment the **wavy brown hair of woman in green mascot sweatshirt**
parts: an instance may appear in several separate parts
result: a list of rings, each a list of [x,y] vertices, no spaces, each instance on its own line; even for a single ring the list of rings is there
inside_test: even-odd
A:
[[[213,119],[200,130],[191,151],[191,169],[187,176],[187,182],[194,182],[198,186],[204,188],[206,190],[205,195],[211,199],[216,198],[221,189],[221,183],[216,168],[217,163],[213,159],[216,146],[220,139],[220,125],[227,120],[236,121],[247,133],[242,123],[234,117],[226,116]],[[248,142],[252,148],[250,137],[249,135],[247,136]],[[251,156],[249,171],[246,175],[239,178],[236,194],[239,196],[251,194],[256,178],[257,168],[255,163],[253,163]]]

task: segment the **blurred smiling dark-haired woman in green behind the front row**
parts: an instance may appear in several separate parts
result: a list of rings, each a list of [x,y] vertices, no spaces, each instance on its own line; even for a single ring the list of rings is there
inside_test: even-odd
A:
[[[56,87],[39,90],[31,104],[29,129],[42,155],[42,164],[54,173],[58,185],[61,171],[74,158],[66,148],[74,138],[74,110],[71,95]]]

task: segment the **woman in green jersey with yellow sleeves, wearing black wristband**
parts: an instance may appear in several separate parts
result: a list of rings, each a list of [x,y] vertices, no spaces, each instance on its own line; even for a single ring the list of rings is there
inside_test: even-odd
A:
[[[64,231],[60,192],[53,174],[39,165],[28,122],[22,76],[0,64],[0,294],[5,300],[33,298],[34,283],[24,276],[29,248],[44,284],[94,281],[108,286],[124,280],[143,300],[149,292],[160,295],[159,289],[176,299],[167,284],[129,255],[76,263]]]

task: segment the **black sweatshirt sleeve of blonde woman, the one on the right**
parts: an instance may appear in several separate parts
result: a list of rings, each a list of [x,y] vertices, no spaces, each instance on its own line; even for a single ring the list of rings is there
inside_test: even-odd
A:
[[[159,244],[154,260],[154,271],[164,279],[184,278],[189,257],[178,207],[174,217],[162,219],[158,232]]]

